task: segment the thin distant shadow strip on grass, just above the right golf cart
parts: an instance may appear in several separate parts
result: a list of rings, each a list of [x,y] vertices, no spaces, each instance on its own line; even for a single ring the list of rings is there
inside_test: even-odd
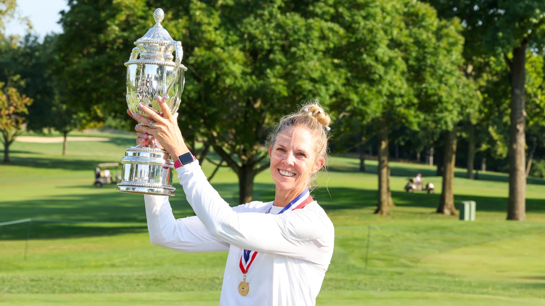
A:
[[[415,166],[419,164],[411,164],[411,165]],[[359,172],[359,167],[360,167],[360,161],[356,158],[353,158],[353,160],[345,162],[344,165],[333,164],[332,166],[329,166],[328,170],[331,172]],[[437,176],[435,169],[426,168],[429,166],[423,165],[423,164],[422,164],[422,168],[405,168],[399,164],[390,164],[390,167],[391,167],[391,176],[402,176],[405,178],[412,178],[418,173],[422,174],[424,178],[430,177],[430,176]],[[377,171],[378,171],[378,167],[376,165],[373,165],[373,164],[365,165],[365,173],[377,174]],[[455,177],[465,179],[466,178],[465,170],[457,169],[455,171]],[[482,180],[482,181],[508,182],[509,180],[509,176],[507,174],[501,175],[496,173],[481,173],[480,172],[478,174],[478,177],[479,177],[478,180]],[[545,179],[539,179],[539,178],[528,178],[526,179],[526,182],[529,184],[535,184],[535,185],[545,185]]]

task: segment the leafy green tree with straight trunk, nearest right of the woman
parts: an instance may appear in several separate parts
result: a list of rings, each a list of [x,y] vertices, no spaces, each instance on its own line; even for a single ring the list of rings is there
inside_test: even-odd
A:
[[[313,7],[343,32],[336,67],[347,76],[335,107],[366,123],[376,120],[379,190],[375,213],[387,215],[387,144],[393,123],[413,130],[452,128],[467,92],[460,86],[462,42],[457,20],[439,20],[433,8],[410,1],[335,1]]]

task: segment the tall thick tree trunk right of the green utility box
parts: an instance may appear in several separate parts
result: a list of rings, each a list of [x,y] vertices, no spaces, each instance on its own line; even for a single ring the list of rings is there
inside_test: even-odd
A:
[[[511,63],[511,124],[509,126],[509,200],[507,220],[526,219],[526,163],[524,135],[526,111],[524,106],[526,43],[513,49]]]

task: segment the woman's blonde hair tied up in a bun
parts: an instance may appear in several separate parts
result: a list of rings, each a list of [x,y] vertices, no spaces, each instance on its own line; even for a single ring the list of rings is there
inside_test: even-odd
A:
[[[314,134],[314,153],[316,154],[316,160],[324,158],[324,168],[328,160],[328,140],[330,137],[329,125],[331,124],[331,118],[324,111],[318,100],[303,101],[301,109],[297,113],[286,115],[280,119],[280,122],[272,129],[267,137],[268,148],[272,148],[276,142],[278,134],[284,130],[284,128],[291,126],[300,126],[306,128],[309,132]],[[313,189],[317,186],[316,178],[318,172],[311,174],[307,182],[309,188]]]

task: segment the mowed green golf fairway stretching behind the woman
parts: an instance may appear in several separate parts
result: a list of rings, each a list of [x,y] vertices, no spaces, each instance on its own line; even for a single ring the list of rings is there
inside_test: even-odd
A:
[[[60,143],[15,142],[12,164],[0,164],[0,222],[34,219],[26,261],[28,223],[0,227],[0,305],[219,304],[226,253],[153,246],[142,196],[92,185],[96,164],[119,161],[133,136],[74,134],[111,140],[70,142],[65,157]],[[441,186],[434,167],[392,163],[397,207],[391,216],[374,216],[376,162],[367,162],[368,173],[357,172],[358,165],[331,158],[314,193],[335,224],[335,253],[317,305],[545,305],[544,180],[529,180],[528,221],[507,222],[507,176],[467,180],[459,169],[457,203],[477,203],[477,221],[462,222],[432,213]],[[203,168],[213,171],[211,164]],[[405,179],[416,173],[437,193],[405,193]],[[231,170],[220,169],[212,183],[237,203]],[[268,172],[256,179],[254,197],[274,198]],[[181,187],[171,203],[176,217],[193,215]]]

